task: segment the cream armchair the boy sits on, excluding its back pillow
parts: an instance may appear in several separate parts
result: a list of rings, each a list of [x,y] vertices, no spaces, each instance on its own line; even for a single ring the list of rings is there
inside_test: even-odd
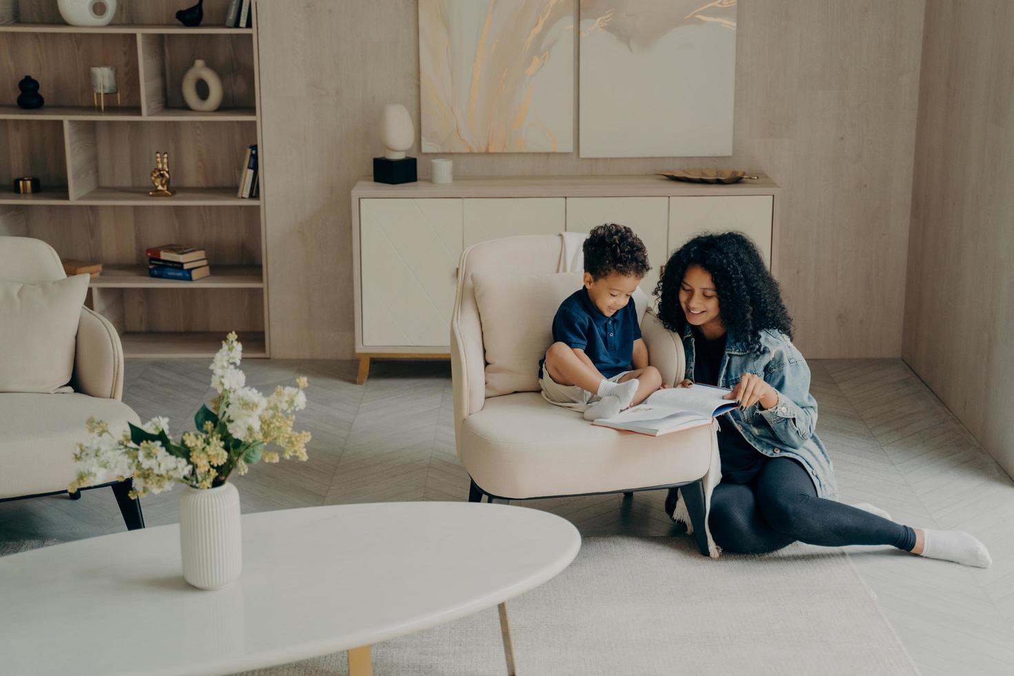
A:
[[[476,244],[461,255],[451,318],[451,372],[457,455],[472,477],[469,502],[652,491],[683,486],[698,545],[708,555],[702,478],[718,453],[711,427],[655,439],[594,427],[581,416],[547,403],[535,391],[487,396],[484,321],[473,275],[556,273],[561,238],[508,237]],[[576,288],[576,287],[575,287]],[[487,307],[489,314],[496,308]],[[487,317],[489,328],[489,317]],[[534,324],[534,321],[533,321]],[[547,334],[548,325],[526,326]],[[649,361],[672,384],[682,377],[682,346],[650,312],[641,329]],[[522,368],[537,369],[536,363]]]

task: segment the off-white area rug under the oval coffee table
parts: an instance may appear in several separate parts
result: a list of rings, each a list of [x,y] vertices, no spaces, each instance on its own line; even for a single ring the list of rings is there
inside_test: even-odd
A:
[[[716,560],[690,537],[588,538],[507,608],[522,675],[919,673],[848,556],[798,542]],[[348,662],[247,673],[347,674]],[[373,673],[506,673],[496,608],[374,646]]]

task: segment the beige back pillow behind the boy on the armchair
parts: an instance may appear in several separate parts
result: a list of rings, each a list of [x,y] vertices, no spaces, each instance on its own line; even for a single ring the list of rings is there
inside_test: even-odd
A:
[[[538,360],[553,343],[553,317],[581,287],[581,273],[472,276],[486,349],[486,396],[538,391]]]

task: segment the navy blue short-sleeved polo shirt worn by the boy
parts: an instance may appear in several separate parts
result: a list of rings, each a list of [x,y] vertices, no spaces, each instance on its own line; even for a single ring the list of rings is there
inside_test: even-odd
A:
[[[581,287],[567,297],[553,317],[553,342],[566,343],[583,350],[598,372],[606,378],[631,370],[634,361],[634,341],[641,337],[637,323],[637,306],[632,298],[627,305],[607,317]],[[538,362],[538,377],[542,377],[542,362]]]

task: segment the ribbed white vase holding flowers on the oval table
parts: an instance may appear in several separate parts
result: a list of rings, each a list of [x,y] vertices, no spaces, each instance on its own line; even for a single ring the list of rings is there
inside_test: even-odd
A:
[[[198,589],[221,589],[242,570],[239,492],[185,485],[179,495],[179,549],[184,579]]]

